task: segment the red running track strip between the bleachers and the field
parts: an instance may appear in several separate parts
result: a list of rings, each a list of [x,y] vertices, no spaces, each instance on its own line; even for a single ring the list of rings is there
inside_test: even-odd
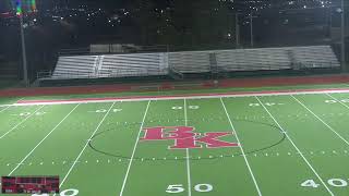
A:
[[[325,75],[325,76],[292,76],[292,77],[263,77],[263,78],[232,78],[219,81],[218,87],[263,87],[282,85],[312,85],[349,83],[349,75]],[[41,88],[15,88],[0,90],[0,97],[24,97],[41,95],[72,95],[72,94],[104,94],[133,91],[146,84],[116,84],[100,86],[73,86],[73,87],[41,87]],[[177,83],[160,84],[160,89],[188,89],[189,87],[176,87]],[[200,88],[215,86],[213,81],[202,82]],[[197,87],[195,87],[197,89]],[[198,89],[200,89],[198,88]]]

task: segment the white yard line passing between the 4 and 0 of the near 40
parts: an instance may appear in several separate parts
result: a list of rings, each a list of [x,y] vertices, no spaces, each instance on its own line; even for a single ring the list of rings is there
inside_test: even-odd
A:
[[[284,130],[284,127],[277,122],[277,120],[273,117],[273,114],[269,112],[269,110],[264,106],[264,103],[260,100],[258,97],[255,97],[258,102],[261,103],[261,106],[264,108],[264,110],[269,114],[269,117],[273,119],[273,121],[277,124],[277,126],[284,132],[284,134],[286,135],[287,139],[292,144],[292,146],[296,148],[296,150],[298,151],[298,154],[302,157],[302,159],[304,160],[304,162],[308,164],[308,167],[313,171],[313,173],[316,175],[316,177],[320,180],[320,182],[324,185],[324,187],[327,189],[327,192],[329,193],[329,195],[334,196],[334,193],[332,193],[332,191],[328,188],[328,186],[326,185],[326,183],[324,182],[324,180],[318,175],[318,173],[316,172],[316,170],[311,166],[311,163],[308,161],[308,159],[304,157],[304,155],[301,152],[301,150],[296,146],[296,144],[293,143],[293,140],[291,139],[291,137],[288,135],[288,133]]]

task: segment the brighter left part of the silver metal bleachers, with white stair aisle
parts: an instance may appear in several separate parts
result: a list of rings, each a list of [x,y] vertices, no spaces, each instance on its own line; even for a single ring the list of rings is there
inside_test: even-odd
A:
[[[167,75],[164,53],[60,57],[52,78]]]

